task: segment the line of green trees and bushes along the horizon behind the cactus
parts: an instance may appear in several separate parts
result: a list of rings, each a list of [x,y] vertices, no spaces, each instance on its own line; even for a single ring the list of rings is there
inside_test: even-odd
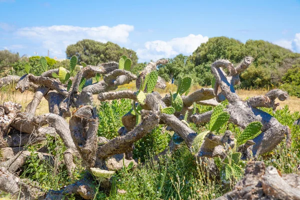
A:
[[[138,63],[136,52],[120,47],[112,42],[99,42],[83,39],[68,45],[66,57],[78,57],[78,64],[99,64],[107,61],[118,61],[121,55],[126,55],[132,61],[131,72],[138,74],[146,63]],[[225,36],[211,37],[202,43],[189,56],[179,54],[168,58],[169,62],[158,65],[158,74],[166,81],[177,79],[179,76],[190,76],[194,83],[210,85],[212,74],[211,63],[216,59],[228,59],[238,63],[244,56],[252,56],[251,66],[241,74],[241,88],[282,88],[290,95],[300,97],[300,53],[294,53],[286,48],[264,40],[247,40],[242,43],[234,38]],[[69,60],[56,61],[49,57],[48,69],[69,66]],[[23,63],[29,62],[30,73],[39,75],[39,56],[20,58],[18,53],[8,50],[0,51],[0,77],[7,74],[24,74]],[[76,70],[75,70],[76,71]]]

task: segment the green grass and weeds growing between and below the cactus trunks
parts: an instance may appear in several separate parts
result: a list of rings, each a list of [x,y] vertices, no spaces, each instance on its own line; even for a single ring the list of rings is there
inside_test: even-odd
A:
[[[226,102],[224,102],[226,104]],[[98,107],[99,127],[98,135],[113,138],[117,135],[117,129],[121,126],[121,116],[131,108],[129,100],[112,100],[102,102]],[[198,111],[204,112],[212,109],[211,106],[197,105]],[[276,117],[282,124],[288,125],[292,134],[292,146],[285,147],[284,142],[278,145],[272,152],[259,157],[266,165],[274,165],[282,173],[299,173],[296,166],[300,163],[300,127],[293,125],[293,121],[300,117],[299,112],[290,113],[285,106],[281,110],[272,111],[271,108],[262,108],[264,111]],[[208,124],[193,124],[190,127],[197,132],[208,129]],[[225,130],[231,130],[237,137],[241,130],[239,127],[228,123],[218,130],[217,134]],[[230,187],[224,187],[218,180],[211,180],[205,176],[205,169],[198,167],[200,160],[195,160],[188,151],[184,142],[171,156],[164,156],[159,163],[152,163],[148,160],[153,155],[162,151],[168,144],[173,132],[165,130],[165,126],[155,127],[149,134],[135,143],[134,158],[139,160],[137,168],[122,169],[112,178],[110,191],[97,191],[95,199],[211,199],[222,195]],[[63,163],[64,145],[60,138],[48,136],[45,143],[48,153],[54,156],[54,165],[48,162],[40,162],[34,153],[40,144],[26,147],[31,157],[19,171],[21,178],[29,178],[38,181],[44,191],[48,189],[60,189],[64,185],[73,183],[81,177],[84,172],[81,160],[75,160],[78,168],[74,177],[67,175]],[[236,181],[236,180],[234,180]],[[233,185],[230,184],[231,186]],[[95,183],[95,187],[98,185]],[[224,189],[226,188],[226,189]],[[125,190],[120,194],[117,189]],[[110,193],[110,195],[109,195]],[[0,194],[5,196],[7,194]],[[70,197],[74,199],[74,197]]]

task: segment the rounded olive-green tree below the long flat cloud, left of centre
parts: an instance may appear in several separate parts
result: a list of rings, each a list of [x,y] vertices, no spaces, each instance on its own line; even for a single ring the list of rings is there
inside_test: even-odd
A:
[[[83,61],[87,64],[92,62],[98,64],[108,61],[116,61],[120,59],[122,55],[126,55],[131,59],[132,66],[137,63],[136,52],[121,48],[119,45],[110,41],[102,43],[91,39],[83,39],[77,41],[75,44],[70,44],[66,47],[66,56],[70,58],[73,55],[78,57],[78,63]]]

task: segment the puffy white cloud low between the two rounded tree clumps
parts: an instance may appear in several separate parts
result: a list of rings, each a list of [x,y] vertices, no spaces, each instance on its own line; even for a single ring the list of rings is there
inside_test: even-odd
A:
[[[139,61],[157,60],[162,57],[169,58],[179,53],[190,54],[207,40],[207,36],[189,34],[186,37],[177,37],[169,41],[147,41],[144,43],[144,48],[138,48],[136,52]]]

